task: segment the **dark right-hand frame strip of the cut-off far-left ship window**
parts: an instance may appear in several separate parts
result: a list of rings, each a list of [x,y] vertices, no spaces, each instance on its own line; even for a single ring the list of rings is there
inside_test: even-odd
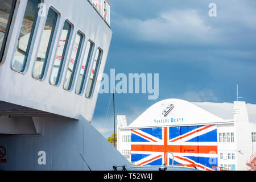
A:
[[[11,11],[10,11],[9,19],[6,25],[5,36],[3,37],[2,47],[0,49],[0,65],[5,62],[3,61],[3,56],[5,55],[7,39],[9,38],[11,24],[13,23],[14,11],[16,9],[17,1],[18,0],[13,0],[13,3],[11,5]]]

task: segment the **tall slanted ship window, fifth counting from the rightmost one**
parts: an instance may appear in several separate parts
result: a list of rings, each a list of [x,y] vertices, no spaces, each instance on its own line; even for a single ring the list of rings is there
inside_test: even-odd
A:
[[[43,79],[44,71],[46,70],[46,63],[48,59],[49,49],[57,22],[57,13],[52,8],[49,9],[46,24],[39,45],[38,56],[36,58],[33,76],[40,80]]]

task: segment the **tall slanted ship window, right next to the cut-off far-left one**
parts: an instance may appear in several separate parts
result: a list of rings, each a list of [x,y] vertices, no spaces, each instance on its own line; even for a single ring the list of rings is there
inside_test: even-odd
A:
[[[13,69],[24,72],[27,63],[27,55],[30,50],[32,36],[35,30],[36,19],[38,18],[38,0],[28,0],[23,16],[22,26],[19,31],[18,43],[13,60]]]

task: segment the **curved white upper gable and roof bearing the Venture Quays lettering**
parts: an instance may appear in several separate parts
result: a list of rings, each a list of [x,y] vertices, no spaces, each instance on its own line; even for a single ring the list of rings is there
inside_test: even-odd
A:
[[[179,99],[167,99],[150,106],[128,127],[204,125],[233,122],[232,112],[232,103],[196,103]]]

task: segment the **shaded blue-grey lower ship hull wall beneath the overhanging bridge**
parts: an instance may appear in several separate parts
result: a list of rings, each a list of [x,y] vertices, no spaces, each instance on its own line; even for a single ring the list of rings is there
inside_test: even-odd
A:
[[[0,135],[6,147],[3,170],[112,170],[112,166],[132,166],[94,127],[83,119],[38,117],[44,134]],[[46,165],[38,164],[38,152],[46,152]]]

